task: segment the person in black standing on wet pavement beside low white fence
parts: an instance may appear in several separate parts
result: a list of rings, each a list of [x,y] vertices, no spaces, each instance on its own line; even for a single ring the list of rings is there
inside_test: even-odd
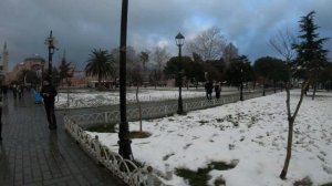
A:
[[[48,116],[48,121],[49,121],[49,128],[56,130],[54,102],[55,102],[55,96],[58,95],[58,91],[52,85],[50,78],[44,79],[43,86],[42,86],[40,94],[44,100],[44,106],[45,106],[46,116]]]

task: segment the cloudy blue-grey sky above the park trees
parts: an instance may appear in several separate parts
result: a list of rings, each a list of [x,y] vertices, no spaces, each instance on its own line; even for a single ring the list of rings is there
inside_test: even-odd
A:
[[[120,45],[121,0],[0,0],[0,50],[7,42],[10,69],[35,53],[48,56],[50,30],[58,40],[60,61],[85,65],[92,49]],[[129,0],[127,44],[136,52],[166,46],[176,55],[174,38],[186,40],[218,27],[240,54],[251,61],[277,56],[267,44],[278,30],[298,34],[300,17],[317,11],[321,37],[332,38],[331,0]],[[332,40],[325,44],[332,51]],[[331,58],[331,52],[329,58]]]

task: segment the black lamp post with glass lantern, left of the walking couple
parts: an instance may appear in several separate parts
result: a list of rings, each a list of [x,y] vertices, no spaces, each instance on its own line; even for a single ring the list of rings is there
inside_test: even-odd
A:
[[[185,43],[185,37],[181,33],[178,33],[175,37],[176,45],[178,46],[178,64],[177,64],[177,71],[178,71],[178,107],[177,113],[183,114],[184,107],[183,107],[183,96],[181,96],[181,86],[183,86],[183,76],[181,76],[181,46]]]

